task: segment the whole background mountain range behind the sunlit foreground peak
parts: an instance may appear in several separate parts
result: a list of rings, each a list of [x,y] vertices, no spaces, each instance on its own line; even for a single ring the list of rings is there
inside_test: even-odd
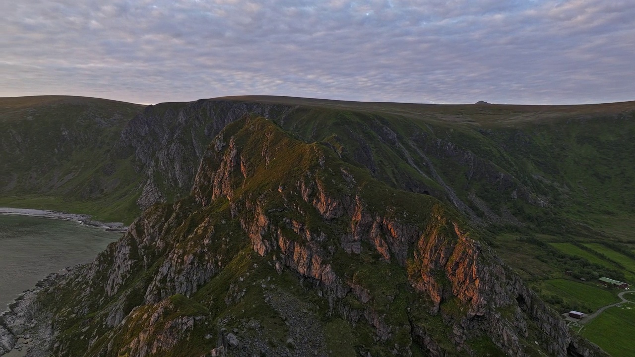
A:
[[[481,226],[546,220],[575,229],[569,219],[635,205],[632,103],[484,107],[241,97],[150,105],[133,116],[140,106],[54,98],[37,105],[6,99],[5,205],[130,222],[152,203],[187,195],[206,145],[249,113],[327,145],[391,187],[450,203]]]

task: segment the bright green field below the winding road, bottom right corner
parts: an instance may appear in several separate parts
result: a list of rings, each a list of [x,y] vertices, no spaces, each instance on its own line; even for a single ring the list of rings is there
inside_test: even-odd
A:
[[[635,351],[635,306],[612,307],[591,321],[582,336],[613,357],[631,357]]]

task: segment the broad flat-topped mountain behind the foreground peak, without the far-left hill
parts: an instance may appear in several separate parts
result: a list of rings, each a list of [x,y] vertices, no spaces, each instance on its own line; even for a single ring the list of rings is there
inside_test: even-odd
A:
[[[481,226],[547,220],[576,229],[569,219],[635,204],[634,109],[199,100],[148,107],[123,130],[113,157],[130,159],[142,177],[137,206],[172,202],[189,192],[211,138],[255,113],[391,187],[450,203]]]

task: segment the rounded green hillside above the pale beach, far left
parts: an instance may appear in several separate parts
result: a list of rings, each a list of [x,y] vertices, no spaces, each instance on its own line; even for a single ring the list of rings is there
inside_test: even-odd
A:
[[[143,107],[84,97],[0,98],[0,187],[7,188],[0,205],[131,220],[137,175],[109,152]]]

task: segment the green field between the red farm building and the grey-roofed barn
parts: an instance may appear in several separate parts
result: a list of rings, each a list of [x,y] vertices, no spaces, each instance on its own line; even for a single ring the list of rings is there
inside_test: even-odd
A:
[[[566,279],[546,280],[540,288],[561,297],[564,300],[563,307],[570,306],[568,309],[585,310],[587,313],[589,309],[596,311],[599,307],[620,301],[604,288]]]

